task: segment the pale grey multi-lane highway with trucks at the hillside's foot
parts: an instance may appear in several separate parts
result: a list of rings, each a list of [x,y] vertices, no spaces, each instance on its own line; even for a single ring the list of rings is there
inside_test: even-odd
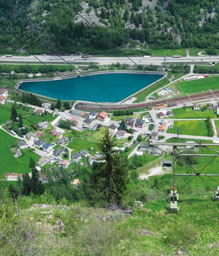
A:
[[[64,61],[61,59],[69,59],[70,56],[61,56],[59,58],[58,56],[54,55],[35,55],[39,60],[42,62],[46,63],[60,63],[62,62],[64,64]],[[96,57],[96,56],[89,56],[89,58],[82,58],[82,56],[72,56],[72,59],[75,59],[74,62],[98,62],[100,65],[109,65],[112,63],[119,62],[121,64],[133,64],[131,60],[129,60],[126,57]],[[150,57],[150,58],[143,58],[143,57],[132,57],[130,56],[134,62],[137,64],[156,64],[156,65],[161,65],[161,63],[164,62],[164,57]],[[17,63],[17,62],[39,62],[33,55],[31,56],[12,56],[12,57],[5,57],[1,56],[0,57],[0,63],[1,62],[7,62],[7,63]],[[74,64],[74,62],[71,62],[71,64]],[[187,56],[187,57],[181,57],[181,58],[172,58],[172,57],[167,57],[167,62],[171,63],[177,63],[177,62],[219,62],[219,56]],[[39,62],[40,63],[40,62]]]

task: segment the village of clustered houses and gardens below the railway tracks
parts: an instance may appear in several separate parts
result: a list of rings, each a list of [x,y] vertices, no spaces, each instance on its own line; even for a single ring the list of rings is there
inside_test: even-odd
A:
[[[23,106],[9,99],[6,88],[0,89],[0,97],[2,105]],[[89,164],[101,161],[102,155],[98,152],[98,143],[95,140],[100,141],[106,129],[116,142],[115,149],[127,152],[128,158],[134,155],[142,156],[144,152],[153,156],[163,155],[161,150],[149,147],[147,145],[149,141],[163,142],[176,136],[188,139],[191,137],[209,139],[208,136],[190,136],[189,133],[184,135],[179,128],[175,128],[178,122],[198,121],[198,118],[197,120],[186,118],[185,115],[188,115],[188,112],[183,116],[180,103],[158,105],[147,108],[145,111],[120,116],[114,116],[113,113],[105,111],[84,112],[75,109],[74,106],[70,110],[60,112],[59,109],[51,110],[51,104],[48,103],[43,104],[42,107],[24,105],[32,111],[32,123],[24,121],[25,117],[23,117],[24,125],[17,127],[17,133],[14,130],[19,118],[15,122],[7,120],[0,128],[11,136],[19,138],[16,144],[10,146],[11,154],[15,158],[22,157],[26,151],[32,151],[39,156],[36,166],[39,173],[41,168],[69,168],[72,163],[84,165],[86,161]],[[193,103],[190,107],[199,114],[201,110],[201,113],[209,113],[213,117],[210,119],[213,127],[216,127],[215,123],[218,125],[219,101]],[[192,118],[195,119],[194,116]],[[218,143],[216,128],[213,129],[212,138],[215,143]],[[189,142],[194,141],[189,140]],[[164,159],[159,167],[160,170],[163,170],[163,167],[170,170],[171,162]],[[18,174],[11,176],[6,173],[5,175],[7,180],[17,180],[18,176],[22,177]]]

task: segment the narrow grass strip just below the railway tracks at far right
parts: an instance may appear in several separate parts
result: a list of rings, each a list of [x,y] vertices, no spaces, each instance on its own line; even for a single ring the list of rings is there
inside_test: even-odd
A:
[[[191,109],[190,111],[188,108],[175,108],[173,109],[174,116],[169,117],[169,118],[174,118],[174,119],[199,119],[199,118],[207,118],[208,116],[210,118],[217,118],[217,110],[205,110],[205,111],[194,111]],[[197,116],[197,115],[198,116]],[[200,117],[199,117],[200,116]]]

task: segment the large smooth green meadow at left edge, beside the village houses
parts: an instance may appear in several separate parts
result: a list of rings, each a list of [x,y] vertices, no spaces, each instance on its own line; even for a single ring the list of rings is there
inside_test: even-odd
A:
[[[15,158],[9,148],[9,146],[16,144],[19,140],[13,138],[11,135],[0,130],[0,156],[1,156],[1,168],[0,168],[0,178],[4,178],[4,173],[6,172],[17,172],[26,173],[31,172],[31,168],[28,167],[30,157],[35,161],[39,160],[39,156],[33,152],[26,153],[25,155]]]

